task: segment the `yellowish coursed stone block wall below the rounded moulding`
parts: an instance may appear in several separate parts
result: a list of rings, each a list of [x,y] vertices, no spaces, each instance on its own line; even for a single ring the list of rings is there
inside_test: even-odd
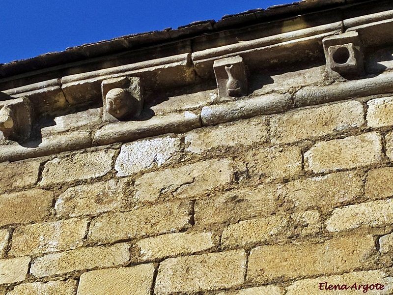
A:
[[[392,110],[365,97],[4,163],[3,293],[391,294]]]

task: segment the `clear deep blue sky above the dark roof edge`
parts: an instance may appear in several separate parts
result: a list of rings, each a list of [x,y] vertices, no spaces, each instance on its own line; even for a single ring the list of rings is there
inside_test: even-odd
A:
[[[0,0],[0,63],[289,0]]]

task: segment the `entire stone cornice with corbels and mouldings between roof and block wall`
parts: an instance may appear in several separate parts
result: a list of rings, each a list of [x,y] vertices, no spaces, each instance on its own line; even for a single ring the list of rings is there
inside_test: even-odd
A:
[[[180,43],[160,45],[165,49],[161,57],[160,46],[145,49],[153,59],[141,58],[141,52],[136,51],[135,58],[127,56],[136,62],[124,63],[124,56],[116,56],[118,60],[112,56],[108,66],[101,69],[95,69],[101,66],[101,59],[90,59],[91,66],[87,67],[84,63],[75,63],[64,66],[63,70],[66,70],[63,72],[61,66],[53,68],[52,72],[38,70],[31,76],[32,80],[43,81],[29,85],[23,85],[29,79],[28,74],[0,79],[0,87],[5,87],[0,92],[0,112],[15,99],[31,103],[32,109],[31,126],[24,125],[23,130],[27,131],[23,134],[9,127],[9,123],[6,126],[6,122],[15,121],[18,114],[26,112],[23,108],[10,107],[10,111],[0,114],[5,122],[5,125],[0,122],[1,130],[5,132],[0,145],[0,161],[133,141],[164,133],[182,133],[203,125],[281,113],[352,97],[391,93],[393,58],[389,46],[393,45],[393,4],[390,7],[386,1],[368,1],[350,5],[356,10],[357,5],[363,9],[365,5],[372,6],[377,2],[383,3],[386,10],[354,17],[343,15],[339,19],[328,10],[321,11],[320,18],[313,12],[312,18],[301,15],[267,25],[237,27],[226,31],[227,36],[218,34],[211,42],[219,44],[222,39],[221,46],[207,45],[196,50],[198,43],[194,44],[194,39],[181,40]],[[340,11],[345,12],[348,5],[335,6],[334,9],[342,8]],[[255,16],[256,13],[251,14]],[[268,31],[260,31],[263,28]],[[240,33],[245,34],[241,42],[230,41]],[[195,38],[209,40],[211,34]],[[172,54],[169,54],[170,49],[174,49]],[[341,51],[348,55],[344,62],[336,61],[333,56],[337,52],[337,60],[341,59],[338,56]],[[354,64],[350,65],[350,62]],[[326,65],[322,66],[324,63]],[[316,69],[320,77],[275,88],[276,82],[272,78],[275,73],[283,74],[288,71],[286,67],[294,64],[295,70],[313,73]],[[88,68],[92,70],[85,71]],[[54,78],[48,73],[68,74]],[[231,75],[234,77],[230,78]],[[45,80],[47,77],[51,79]],[[228,77],[233,81],[230,82]],[[212,86],[215,83],[218,91]],[[18,84],[22,85],[6,88]],[[107,93],[111,89],[114,92],[109,98]],[[122,96],[112,96],[114,93],[122,93]],[[164,97],[158,98],[160,95]],[[126,96],[131,100],[139,97],[133,104],[139,104],[140,108],[144,106],[144,109],[141,113],[116,118],[117,111],[111,112],[108,106],[118,104],[124,110],[124,101],[129,99]],[[116,99],[120,100],[116,102]],[[5,135],[8,133],[11,134],[9,137]]]

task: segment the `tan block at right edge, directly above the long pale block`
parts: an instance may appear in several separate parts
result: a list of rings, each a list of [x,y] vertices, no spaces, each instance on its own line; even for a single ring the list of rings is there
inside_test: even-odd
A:
[[[365,196],[371,200],[393,196],[393,168],[385,167],[368,171]]]

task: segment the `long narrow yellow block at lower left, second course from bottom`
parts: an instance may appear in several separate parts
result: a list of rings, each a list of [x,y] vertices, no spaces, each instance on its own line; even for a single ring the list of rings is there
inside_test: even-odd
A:
[[[95,267],[123,266],[129,259],[129,246],[126,243],[80,248],[40,257],[31,265],[30,273],[45,277]]]

